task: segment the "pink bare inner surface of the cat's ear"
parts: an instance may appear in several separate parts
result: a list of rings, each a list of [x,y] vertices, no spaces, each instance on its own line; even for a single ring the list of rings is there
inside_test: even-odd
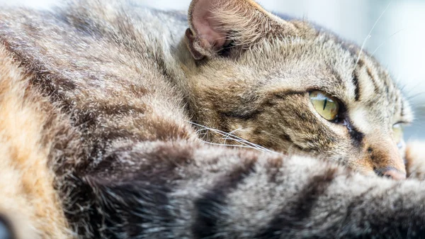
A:
[[[219,0],[220,1],[220,0]],[[193,9],[192,23],[199,37],[205,39],[206,48],[218,50],[226,43],[226,33],[220,30],[220,23],[214,18],[212,9],[217,0],[199,0]]]

